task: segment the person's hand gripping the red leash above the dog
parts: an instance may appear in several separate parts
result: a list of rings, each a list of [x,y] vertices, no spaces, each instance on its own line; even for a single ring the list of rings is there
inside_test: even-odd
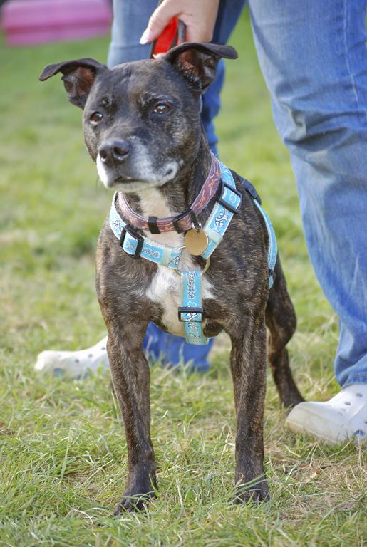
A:
[[[187,42],[210,42],[218,5],[219,0],[163,0],[150,16],[140,43],[153,42],[174,17],[185,23]]]

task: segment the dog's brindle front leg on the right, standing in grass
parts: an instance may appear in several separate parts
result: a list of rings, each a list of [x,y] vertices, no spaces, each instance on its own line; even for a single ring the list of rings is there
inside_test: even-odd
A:
[[[237,331],[237,332],[236,332]],[[230,333],[234,406],[237,417],[234,503],[269,498],[264,472],[264,402],[267,335],[264,312],[247,317]]]

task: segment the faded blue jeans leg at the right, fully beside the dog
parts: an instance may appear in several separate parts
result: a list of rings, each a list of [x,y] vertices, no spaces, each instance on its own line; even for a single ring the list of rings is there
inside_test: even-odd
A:
[[[342,387],[367,382],[366,0],[249,0],[309,256],[340,320]]]

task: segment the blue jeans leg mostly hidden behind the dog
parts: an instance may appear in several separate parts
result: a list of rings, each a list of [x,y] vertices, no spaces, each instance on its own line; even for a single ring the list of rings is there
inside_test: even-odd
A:
[[[222,0],[219,17],[214,29],[213,41],[226,43],[232,32],[244,0]],[[150,45],[141,46],[139,39],[150,15],[157,6],[157,0],[113,0],[112,40],[108,52],[108,66],[115,66],[126,61],[137,61],[149,56]],[[220,61],[217,76],[203,98],[202,123],[212,151],[216,154],[217,137],[214,131],[213,118],[220,108],[219,93],[224,81],[224,63]],[[190,345],[185,338],[164,333],[154,323],[148,325],[143,348],[153,360],[177,365],[180,362],[192,363],[200,372],[209,369],[207,355],[212,347],[208,345]]]

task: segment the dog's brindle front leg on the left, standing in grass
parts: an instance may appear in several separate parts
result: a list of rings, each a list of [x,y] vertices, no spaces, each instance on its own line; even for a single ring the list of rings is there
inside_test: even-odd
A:
[[[125,325],[108,329],[108,358],[113,386],[123,412],[128,444],[128,480],[115,509],[141,509],[156,488],[155,457],[150,440],[150,371],[143,353],[145,328]]]

